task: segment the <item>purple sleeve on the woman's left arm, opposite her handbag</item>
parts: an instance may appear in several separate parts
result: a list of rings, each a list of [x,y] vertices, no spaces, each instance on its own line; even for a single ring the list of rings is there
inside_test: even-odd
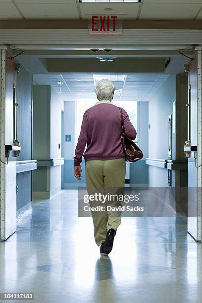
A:
[[[75,150],[74,165],[79,166],[82,161],[83,153],[87,144],[87,116],[86,112],[83,115],[83,121],[81,124],[81,132],[79,135],[78,143]]]

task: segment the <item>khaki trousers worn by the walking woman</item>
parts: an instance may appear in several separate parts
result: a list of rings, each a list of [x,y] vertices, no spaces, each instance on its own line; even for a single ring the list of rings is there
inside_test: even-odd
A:
[[[88,195],[123,193],[125,184],[126,162],[125,158],[113,160],[89,160],[85,163],[86,184]],[[96,205],[121,206],[118,201],[107,200],[104,204],[89,202],[91,207]],[[105,241],[106,233],[110,228],[117,230],[121,223],[121,210],[110,211],[105,207],[104,211],[91,211],[94,223],[94,237],[96,244],[101,245]]]

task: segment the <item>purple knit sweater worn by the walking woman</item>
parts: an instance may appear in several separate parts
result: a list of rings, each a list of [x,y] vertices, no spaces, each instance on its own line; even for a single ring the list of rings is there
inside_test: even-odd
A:
[[[126,135],[134,140],[136,130],[127,112],[122,108]],[[84,159],[110,160],[124,158],[120,138],[121,114],[116,105],[110,101],[99,101],[87,109],[83,115],[81,132],[75,150],[74,165],[80,165]],[[87,149],[85,150],[87,144]]]

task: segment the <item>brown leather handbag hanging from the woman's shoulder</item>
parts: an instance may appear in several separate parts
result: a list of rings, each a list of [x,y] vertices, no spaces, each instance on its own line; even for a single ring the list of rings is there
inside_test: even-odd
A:
[[[143,157],[143,152],[141,149],[125,134],[125,127],[123,121],[123,113],[121,108],[119,107],[121,112],[121,141],[123,144],[123,150],[125,153],[126,162],[136,162]],[[137,142],[136,142],[137,143]]]

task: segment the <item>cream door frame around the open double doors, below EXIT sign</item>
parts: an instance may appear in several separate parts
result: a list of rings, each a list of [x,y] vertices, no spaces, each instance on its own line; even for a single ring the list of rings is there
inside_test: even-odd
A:
[[[57,45],[57,49],[84,49],[86,47],[87,50],[91,49],[92,46],[98,48],[100,46],[100,41],[97,44],[88,45],[86,43],[86,33],[82,37],[80,35],[76,35],[78,33],[81,34],[84,30],[75,30],[71,29],[71,39],[69,44],[65,44],[68,41],[68,36],[70,35],[70,30],[62,30],[61,29],[48,29],[46,30],[31,30],[31,29],[23,29],[23,30],[0,30],[0,43],[12,43],[17,44],[15,47],[20,47],[24,50],[50,50],[55,49],[55,45]],[[74,31],[74,35],[72,35],[72,31]],[[78,32],[79,31],[79,32]],[[85,30],[86,31],[86,30]],[[111,46],[113,49],[125,49],[125,50],[179,50],[183,48],[191,48],[191,46],[196,43],[196,41],[200,44],[197,46],[196,50],[198,51],[198,111],[197,111],[197,120],[198,120],[198,163],[201,164],[202,160],[202,30],[124,30],[125,34],[122,38],[124,38],[124,42],[119,41],[120,37],[113,37],[114,44],[111,45],[111,41],[109,44],[109,38],[106,37],[101,41],[101,48],[104,48],[104,45]],[[152,45],[144,44],[144,39],[147,37],[151,40],[151,31],[153,33]],[[37,35],[36,35],[37,32]],[[58,32],[60,35],[58,36]],[[138,33],[138,39],[135,40],[135,43],[131,44],[131,33],[133,35]],[[143,33],[143,37],[141,38],[141,33]],[[47,35],[48,34],[48,35]],[[50,36],[51,34],[51,36]],[[68,35],[67,35],[68,34]],[[170,38],[170,34],[175,34]],[[182,35],[183,34],[183,35]],[[160,35],[159,37],[157,35]],[[168,38],[169,36],[169,38]],[[46,38],[46,39],[45,39]],[[75,39],[74,39],[75,38]],[[77,39],[81,38],[80,41]],[[88,37],[90,39],[90,37]],[[29,40],[27,40],[29,39]],[[44,40],[45,39],[45,40]],[[51,41],[54,41],[54,44],[49,44]],[[98,38],[96,38],[98,39]],[[166,43],[166,39],[168,42]],[[100,40],[100,37],[99,37]],[[123,39],[121,39],[123,40]],[[29,44],[27,44],[29,41]],[[45,44],[42,44],[46,43]],[[92,41],[92,37],[91,37]],[[91,42],[90,41],[90,42]],[[118,46],[118,41],[121,45]],[[188,41],[188,42],[187,42]],[[59,44],[63,42],[64,45]],[[172,43],[171,43],[172,42]],[[186,43],[185,43],[186,42]],[[20,43],[20,44],[19,44]],[[38,44],[36,44],[38,43]],[[40,44],[41,43],[41,44]],[[98,44],[99,43],[99,44]],[[140,43],[143,43],[140,45]],[[180,44],[181,43],[181,44]],[[5,146],[5,50],[6,47],[4,45],[0,46],[0,158],[4,161],[4,146]],[[198,165],[199,165],[198,164]],[[198,168],[197,174],[197,185],[198,185],[198,231],[199,231],[199,240],[202,240],[202,167]],[[4,232],[4,216],[5,216],[5,165],[0,163],[0,233]]]

